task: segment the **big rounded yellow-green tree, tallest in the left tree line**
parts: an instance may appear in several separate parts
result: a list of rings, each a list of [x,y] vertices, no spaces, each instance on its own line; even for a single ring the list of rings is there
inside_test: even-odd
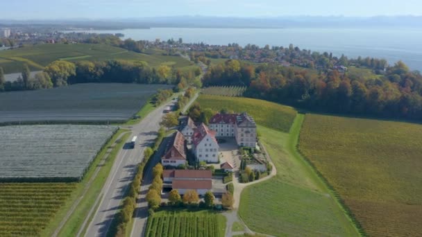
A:
[[[44,72],[48,73],[54,87],[67,85],[67,79],[76,76],[75,64],[67,61],[54,61],[44,68]]]

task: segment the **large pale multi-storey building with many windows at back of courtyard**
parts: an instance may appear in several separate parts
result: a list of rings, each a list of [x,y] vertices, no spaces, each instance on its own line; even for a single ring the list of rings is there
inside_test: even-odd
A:
[[[256,124],[246,113],[215,114],[210,119],[210,129],[216,132],[217,137],[235,137],[238,146],[256,146]]]

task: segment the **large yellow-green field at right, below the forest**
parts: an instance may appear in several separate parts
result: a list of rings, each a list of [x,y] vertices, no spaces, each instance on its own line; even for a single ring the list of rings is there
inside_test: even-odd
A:
[[[422,233],[422,125],[307,114],[300,150],[369,236]]]

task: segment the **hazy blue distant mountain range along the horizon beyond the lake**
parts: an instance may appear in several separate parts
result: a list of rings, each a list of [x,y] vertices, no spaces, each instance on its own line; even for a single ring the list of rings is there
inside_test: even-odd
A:
[[[341,27],[341,28],[422,28],[422,16],[377,17],[143,17],[126,19],[58,19],[58,20],[11,20],[1,19],[0,26],[61,26],[69,28],[122,29],[153,27],[186,28],[295,28],[295,27]]]

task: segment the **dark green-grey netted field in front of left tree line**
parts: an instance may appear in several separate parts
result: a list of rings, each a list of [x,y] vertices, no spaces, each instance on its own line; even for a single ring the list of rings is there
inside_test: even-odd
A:
[[[76,84],[0,94],[0,123],[126,121],[169,85]]]

